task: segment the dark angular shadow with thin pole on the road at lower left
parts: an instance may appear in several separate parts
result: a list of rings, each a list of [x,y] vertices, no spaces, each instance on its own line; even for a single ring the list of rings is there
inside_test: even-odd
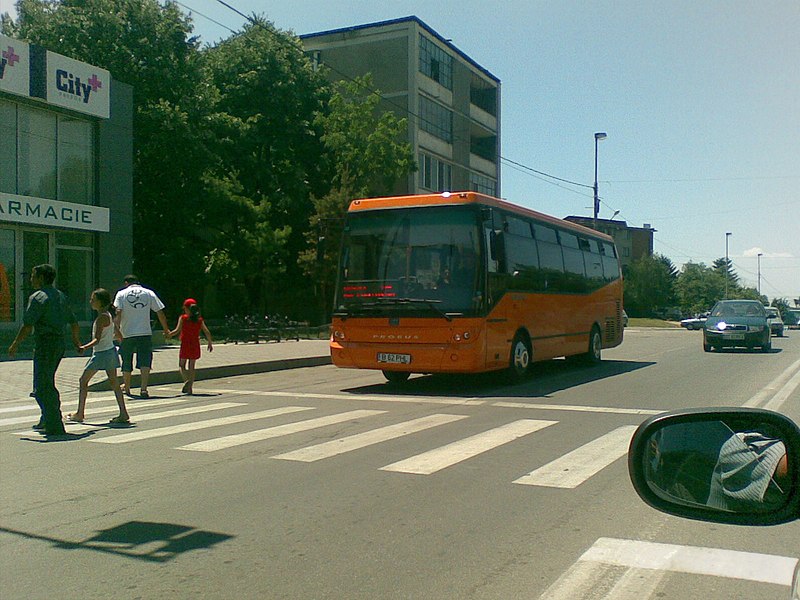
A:
[[[232,535],[202,531],[186,525],[148,521],[128,521],[116,527],[102,529],[92,537],[77,542],[8,527],[0,527],[0,532],[48,542],[55,548],[64,550],[93,550],[156,563],[170,561],[191,550],[211,548],[233,538]]]

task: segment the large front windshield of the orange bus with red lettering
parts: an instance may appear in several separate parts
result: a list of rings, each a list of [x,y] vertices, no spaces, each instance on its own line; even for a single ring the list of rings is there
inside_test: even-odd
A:
[[[470,206],[349,214],[336,313],[475,314],[484,296],[478,215]]]

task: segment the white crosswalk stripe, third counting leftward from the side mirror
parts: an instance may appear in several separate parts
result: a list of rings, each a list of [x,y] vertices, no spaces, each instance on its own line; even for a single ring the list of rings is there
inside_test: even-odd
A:
[[[314,446],[308,446],[306,448],[294,450],[293,452],[278,454],[272,458],[314,462],[466,418],[465,415],[429,415],[427,417],[365,431],[364,433],[338,438],[329,442],[323,442]]]

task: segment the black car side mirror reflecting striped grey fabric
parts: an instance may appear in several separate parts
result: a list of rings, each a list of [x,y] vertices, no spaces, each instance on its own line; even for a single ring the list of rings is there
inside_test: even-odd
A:
[[[628,471],[639,496],[667,514],[738,525],[800,518],[800,429],[771,411],[652,417],[631,439]]]

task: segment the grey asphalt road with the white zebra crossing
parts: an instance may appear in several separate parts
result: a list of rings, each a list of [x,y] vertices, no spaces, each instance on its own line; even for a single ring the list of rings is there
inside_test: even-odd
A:
[[[64,442],[3,404],[0,597],[785,600],[800,522],[685,521],[628,479],[650,414],[800,422],[799,331],[770,354],[700,335],[629,330],[598,367],[511,387],[332,366],[151,387],[130,428],[93,393]]]

